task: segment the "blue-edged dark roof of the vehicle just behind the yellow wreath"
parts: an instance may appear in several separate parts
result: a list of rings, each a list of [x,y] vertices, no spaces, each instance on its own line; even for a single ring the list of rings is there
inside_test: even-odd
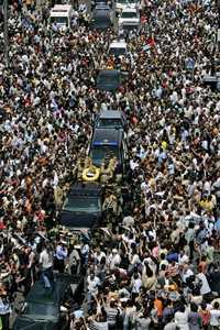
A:
[[[117,129],[96,129],[94,132],[92,145],[118,146],[122,140],[121,130]]]

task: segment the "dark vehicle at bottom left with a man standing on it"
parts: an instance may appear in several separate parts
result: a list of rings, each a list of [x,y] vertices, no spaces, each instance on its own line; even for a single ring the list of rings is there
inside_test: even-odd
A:
[[[79,284],[79,286],[78,286]],[[82,279],[75,287],[82,290]],[[63,330],[67,329],[62,317],[61,306],[67,295],[72,295],[72,277],[68,274],[56,274],[55,287],[52,293],[37,280],[29,293],[24,310],[16,317],[13,330]]]

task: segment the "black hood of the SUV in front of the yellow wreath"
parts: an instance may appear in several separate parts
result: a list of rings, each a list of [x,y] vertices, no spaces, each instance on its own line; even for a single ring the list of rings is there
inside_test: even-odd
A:
[[[61,215],[61,224],[67,228],[92,228],[101,216],[100,212],[72,212],[63,210]]]

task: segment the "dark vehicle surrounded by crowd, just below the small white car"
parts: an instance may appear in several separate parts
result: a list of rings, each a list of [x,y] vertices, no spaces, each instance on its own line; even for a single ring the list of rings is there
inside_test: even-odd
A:
[[[100,70],[96,87],[100,90],[116,91],[121,86],[121,73],[116,69]]]

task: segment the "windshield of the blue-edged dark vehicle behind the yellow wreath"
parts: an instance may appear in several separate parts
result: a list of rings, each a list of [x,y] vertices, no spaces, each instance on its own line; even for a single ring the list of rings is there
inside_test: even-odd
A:
[[[107,157],[117,157],[120,161],[119,148],[109,145],[92,147],[90,156],[97,165],[100,165]]]

